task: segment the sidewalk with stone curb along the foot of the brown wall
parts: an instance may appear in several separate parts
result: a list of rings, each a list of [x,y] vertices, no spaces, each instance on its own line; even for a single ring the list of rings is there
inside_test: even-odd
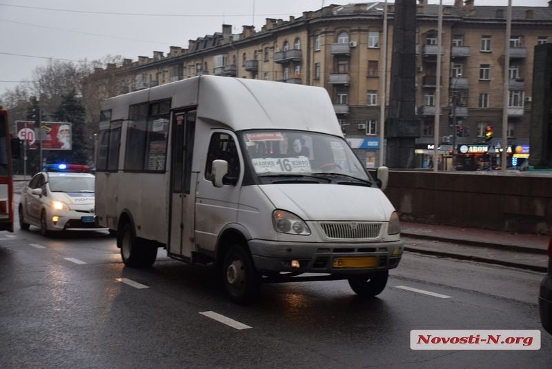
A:
[[[401,222],[406,251],[546,272],[548,235]],[[414,240],[413,240],[414,239]]]

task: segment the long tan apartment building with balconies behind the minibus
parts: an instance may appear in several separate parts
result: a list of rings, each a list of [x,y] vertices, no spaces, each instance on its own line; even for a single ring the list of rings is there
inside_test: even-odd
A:
[[[379,150],[384,147],[380,121],[386,114],[380,107],[389,104],[393,50],[395,8],[388,3],[384,12],[384,6],[381,2],[326,6],[286,21],[266,19],[258,31],[243,26],[239,34],[233,34],[232,26],[223,25],[222,32],[190,40],[188,48],[170,46],[166,55],[155,51],[152,57],[139,57],[134,62],[126,59],[121,66],[97,70],[86,86],[102,98],[201,74],[322,86],[333,99],[349,143],[367,168],[375,167],[380,165]],[[415,98],[420,119],[416,166],[428,166],[435,121],[440,122],[443,170],[452,169],[451,159],[457,154],[460,169],[492,168],[500,160],[488,151],[495,148],[510,146],[508,150],[513,150],[520,146],[524,150],[520,156],[526,157],[533,48],[552,41],[552,1],[548,7],[513,7],[511,37],[506,40],[506,6],[477,6],[473,0],[456,0],[454,5],[442,7],[441,48],[437,46],[439,9],[420,0],[416,11]],[[440,106],[436,106],[437,90]],[[500,137],[505,106],[506,139]],[[439,119],[435,119],[436,114]],[[486,137],[489,127],[491,139]],[[457,151],[460,146],[462,152]]]

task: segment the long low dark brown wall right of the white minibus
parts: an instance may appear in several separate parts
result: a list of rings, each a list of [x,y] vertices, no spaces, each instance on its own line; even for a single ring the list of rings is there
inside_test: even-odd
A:
[[[403,221],[552,235],[552,175],[391,170]]]

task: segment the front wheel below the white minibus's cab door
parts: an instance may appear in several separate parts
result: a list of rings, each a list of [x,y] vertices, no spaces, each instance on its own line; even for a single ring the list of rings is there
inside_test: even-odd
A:
[[[228,248],[221,264],[222,286],[235,303],[250,303],[257,297],[260,278],[247,250],[239,243]]]

